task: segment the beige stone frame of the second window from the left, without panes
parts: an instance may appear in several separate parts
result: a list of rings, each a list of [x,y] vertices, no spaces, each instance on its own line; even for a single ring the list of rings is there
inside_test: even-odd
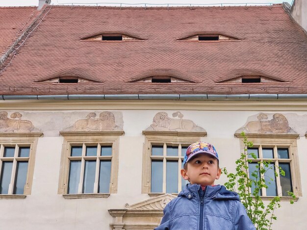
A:
[[[85,131],[85,132],[69,131],[69,132],[60,132],[60,134],[64,137],[64,141],[63,141],[63,148],[61,155],[61,168],[59,176],[58,194],[62,195],[65,199],[81,199],[81,198],[107,198],[111,193],[117,193],[119,139],[120,136],[124,134],[124,131]],[[110,190],[108,193],[77,193],[77,194],[67,193],[71,147],[84,146],[84,145],[87,146],[112,145],[111,157],[85,156],[86,158],[93,158],[93,159],[94,158],[111,159]],[[80,156],[78,158],[81,159],[83,157],[84,156]]]

